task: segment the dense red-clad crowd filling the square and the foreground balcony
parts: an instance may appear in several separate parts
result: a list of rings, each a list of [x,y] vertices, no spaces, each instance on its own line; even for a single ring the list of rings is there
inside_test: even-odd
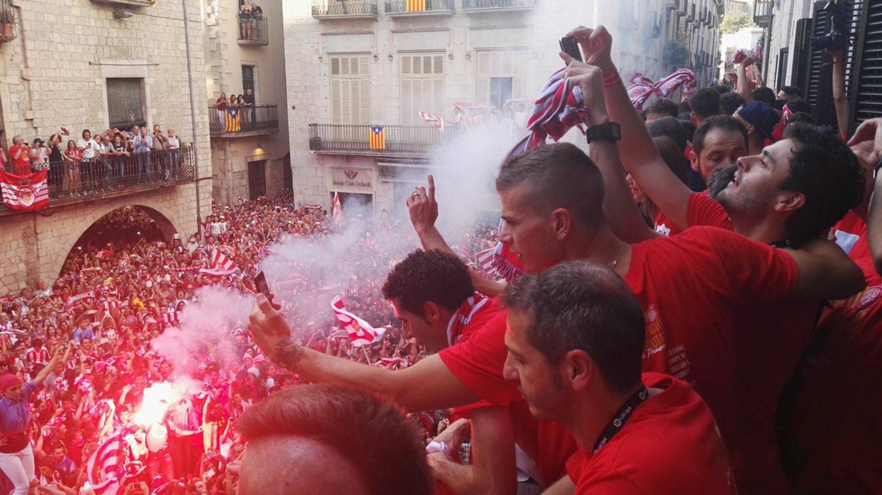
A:
[[[498,230],[445,240],[431,177],[407,199],[422,249],[390,218],[340,232],[287,194],[241,200],[186,242],[149,225],[86,242],[53,284],[7,296],[0,469],[15,492],[100,480],[112,439],[126,493],[882,491],[882,119],[847,143],[841,107],[840,133],[811,125],[792,88],[751,87],[751,60],[736,92],[641,116],[609,33],[569,35],[590,156],[506,159]],[[497,241],[495,262],[522,275],[475,263]],[[154,349],[211,286],[250,314],[187,363]],[[342,326],[334,293],[385,334],[355,346],[365,329]],[[147,420],[184,373],[196,389]]]

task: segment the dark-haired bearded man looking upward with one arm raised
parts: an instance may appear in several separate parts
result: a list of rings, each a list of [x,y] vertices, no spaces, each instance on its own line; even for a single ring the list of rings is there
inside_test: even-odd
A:
[[[584,29],[579,33],[583,48],[592,38],[607,48],[612,42],[605,30]],[[617,73],[615,65],[603,55],[594,62],[604,74]],[[584,64],[571,64],[571,71],[578,73],[580,65]],[[818,239],[863,196],[863,174],[848,146],[826,129],[793,124],[785,139],[766,147],[760,155],[738,158],[733,180],[719,192],[720,176],[710,177],[709,193],[715,194],[717,203],[691,192],[669,172],[640,125],[624,85],[605,84],[604,91],[610,116],[624,128],[624,169],[662,212],[683,228],[718,226],[774,247],[799,248]],[[712,117],[702,123],[696,135],[715,132],[708,129],[717,125],[741,127],[732,117]],[[610,195],[604,206],[617,233],[633,240],[657,235],[645,224],[633,221],[632,202],[623,196],[622,167],[609,160],[599,160],[598,165]],[[717,174],[731,170],[723,166]],[[714,169],[707,167],[703,172],[713,174]],[[830,251],[829,255],[841,253]],[[783,493],[788,485],[779,462],[774,411],[808,342],[818,301],[761,301],[749,308],[750,313],[748,307],[744,309],[736,313],[736,326],[744,329],[736,335],[738,386],[743,394],[737,414],[744,452],[744,465],[736,464],[739,488],[751,493]],[[736,457],[736,462],[740,461]]]

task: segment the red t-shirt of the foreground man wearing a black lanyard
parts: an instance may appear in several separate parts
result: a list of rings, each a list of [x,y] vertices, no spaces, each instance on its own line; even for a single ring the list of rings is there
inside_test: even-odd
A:
[[[576,494],[736,493],[707,404],[689,384],[661,373],[645,373],[643,383],[663,391],[637,406],[600,452],[587,446],[566,463]]]

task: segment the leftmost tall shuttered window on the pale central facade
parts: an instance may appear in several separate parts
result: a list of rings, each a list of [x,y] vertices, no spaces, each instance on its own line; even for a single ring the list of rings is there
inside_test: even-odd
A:
[[[335,124],[370,124],[369,55],[331,56],[331,118]]]

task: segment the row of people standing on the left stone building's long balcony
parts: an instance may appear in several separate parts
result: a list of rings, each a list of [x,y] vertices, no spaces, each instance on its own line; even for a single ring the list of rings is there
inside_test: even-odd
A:
[[[181,138],[175,129],[163,133],[160,124],[153,125],[152,133],[138,125],[131,131],[115,128],[95,135],[83,129],[76,140],[59,131],[49,142],[35,137],[31,144],[15,136],[8,152],[0,148],[0,165],[16,175],[46,170],[50,197],[82,196],[148,178],[181,177]]]

